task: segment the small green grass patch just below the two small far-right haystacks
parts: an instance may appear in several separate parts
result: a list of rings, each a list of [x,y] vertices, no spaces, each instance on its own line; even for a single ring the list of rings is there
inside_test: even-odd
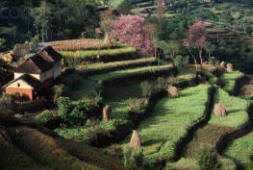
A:
[[[232,92],[234,90],[236,80],[241,76],[243,76],[243,73],[239,71],[224,73],[222,76],[222,80],[225,82],[224,89],[228,92]]]

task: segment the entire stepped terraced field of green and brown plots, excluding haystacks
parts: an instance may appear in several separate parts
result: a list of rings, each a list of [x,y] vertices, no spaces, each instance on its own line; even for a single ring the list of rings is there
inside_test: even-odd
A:
[[[0,127],[1,169],[123,170],[124,148],[133,129],[141,136],[144,159],[157,165],[157,170],[165,166],[199,169],[200,146],[217,152],[221,169],[251,169],[250,100],[232,96],[243,73],[235,71],[216,77],[214,69],[204,68],[198,73],[190,65],[176,70],[167,62],[158,65],[154,57],[132,56],[137,53],[131,47],[117,50],[101,50],[102,60],[82,65],[64,77],[77,79],[67,97],[73,101],[102,98],[102,105],[111,108],[112,119],[105,122],[99,116],[89,120],[93,125],[87,125],[87,121],[80,126],[66,126],[63,122],[52,131],[33,123],[8,125],[7,138]],[[85,60],[96,58],[98,50],[63,54]],[[164,86],[157,88],[161,82]],[[143,83],[152,85],[152,95],[145,96]],[[167,96],[168,85],[177,86],[178,98]],[[227,116],[214,115],[215,103],[226,105]]]

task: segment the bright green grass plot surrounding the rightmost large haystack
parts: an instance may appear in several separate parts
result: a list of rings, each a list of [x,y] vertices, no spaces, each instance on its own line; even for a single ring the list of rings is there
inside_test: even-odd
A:
[[[226,91],[219,89],[216,93],[216,103],[225,104],[227,116],[217,117],[212,114],[209,124],[215,126],[239,127],[248,121],[247,100],[230,96]]]

